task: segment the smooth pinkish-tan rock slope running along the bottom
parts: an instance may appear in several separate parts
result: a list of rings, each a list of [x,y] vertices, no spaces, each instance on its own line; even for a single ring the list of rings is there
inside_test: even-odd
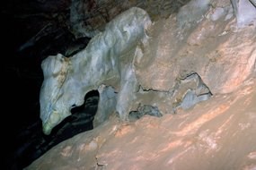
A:
[[[135,123],[111,117],[66,140],[25,170],[234,169],[256,167],[255,78],[189,111],[144,116]]]

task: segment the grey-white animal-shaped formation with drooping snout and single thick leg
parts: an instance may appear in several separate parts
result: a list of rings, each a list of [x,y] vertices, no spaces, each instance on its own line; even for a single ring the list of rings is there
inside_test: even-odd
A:
[[[71,115],[71,108],[81,106],[87,92],[102,84],[119,91],[116,111],[127,119],[137,90],[133,61],[142,54],[138,47],[146,45],[150,25],[148,14],[133,7],[110,21],[80,53],[71,58],[49,56],[42,62],[40,118],[45,134]]]

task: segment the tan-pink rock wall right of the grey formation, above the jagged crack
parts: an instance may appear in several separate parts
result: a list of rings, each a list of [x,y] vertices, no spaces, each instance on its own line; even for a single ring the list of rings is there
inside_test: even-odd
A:
[[[255,25],[239,29],[234,21],[203,18],[183,30],[176,29],[173,17],[156,21],[149,33],[150,50],[136,64],[141,86],[172,89],[180,74],[198,72],[213,94],[236,89],[252,73],[256,34]]]

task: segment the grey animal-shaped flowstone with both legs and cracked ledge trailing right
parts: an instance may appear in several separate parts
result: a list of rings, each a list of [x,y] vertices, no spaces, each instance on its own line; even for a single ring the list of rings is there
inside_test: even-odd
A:
[[[111,113],[126,122],[136,109],[137,116],[161,116],[210,98],[211,92],[196,72],[178,78],[173,89],[141,87],[135,63],[146,57],[145,49],[150,50],[146,32],[151,24],[144,10],[133,7],[110,21],[83,51],[70,58],[58,54],[43,61],[40,118],[45,134],[71,115],[72,108],[83,105],[91,90],[100,93],[96,125]]]

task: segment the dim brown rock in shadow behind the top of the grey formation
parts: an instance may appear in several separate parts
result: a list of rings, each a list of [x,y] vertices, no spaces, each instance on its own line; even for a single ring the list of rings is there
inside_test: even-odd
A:
[[[149,13],[153,21],[177,13],[189,0],[72,0],[70,26],[76,38],[93,37],[107,22],[132,6]]]

